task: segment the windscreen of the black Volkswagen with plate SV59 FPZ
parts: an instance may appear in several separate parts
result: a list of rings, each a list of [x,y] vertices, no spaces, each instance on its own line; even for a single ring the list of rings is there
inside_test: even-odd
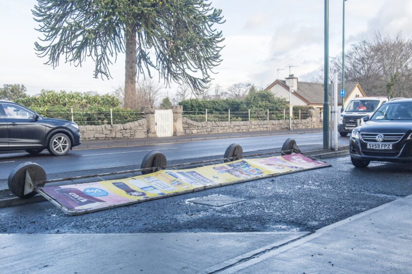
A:
[[[412,120],[412,103],[383,104],[371,120]]]

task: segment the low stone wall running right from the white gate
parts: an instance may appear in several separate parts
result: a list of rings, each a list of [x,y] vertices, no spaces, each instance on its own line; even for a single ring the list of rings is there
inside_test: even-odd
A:
[[[233,121],[233,122],[195,122],[183,118],[183,131],[185,135],[248,132],[248,131],[273,131],[289,129],[289,120],[269,121]],[[307,118],[305,120],[292,120],[293,129],[321,128],[320,119]]]

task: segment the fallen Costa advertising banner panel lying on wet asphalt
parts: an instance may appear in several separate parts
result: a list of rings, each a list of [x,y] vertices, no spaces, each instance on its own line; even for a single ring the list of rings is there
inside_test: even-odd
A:
[[[303,154],[240,159],[192,169],[161,170],[122,180],[38,188],[71,215],[125,206],[197,190],[328,167]]]

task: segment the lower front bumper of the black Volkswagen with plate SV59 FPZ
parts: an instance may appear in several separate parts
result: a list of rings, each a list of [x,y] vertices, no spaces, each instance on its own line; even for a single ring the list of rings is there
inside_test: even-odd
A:
[[[382,152],[382,155],[366,155],[366,152],[362,151],[362,146],[360,145],[359,139],[354,139],[351,137],[349,142],[349,153],[352,158],[357,160],[411,163],[412,153],[410,152],[411,149],[407,147],[407,145],[410,146],[411,144],[411,142],[404,143],[396,155],[387,156],[384,155],[385,152]],[[380,151],[376,151],[376,154],[379,152]]]

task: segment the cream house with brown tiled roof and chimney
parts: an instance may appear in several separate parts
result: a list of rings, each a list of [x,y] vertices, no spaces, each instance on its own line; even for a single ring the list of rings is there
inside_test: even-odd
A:
[[[285,98],[289,102],[289,87],[292,86],[294,92],[292,93],[291,105],[307,105],[313,106],[319,109],[323,109],[324,88],[321,83],[310,83],[298,81],[298,78],[293,74],[289,75],[285,80],[276,79],[265,90],[271,91],[275,96]],[[329,90],[332,90],[333,86],[329,85]],[[341,89],[342,85],[338,86]],[[356,97],[365,97],[359,83],[349,82],[345,83],[346,96],[345,96],[345,108],[350,100]],[[329,91],[330,96],[330,91]],[[330,99],[329,99],[330,102]],[[338,105],[342,105],[341,97],[338,98]]]

